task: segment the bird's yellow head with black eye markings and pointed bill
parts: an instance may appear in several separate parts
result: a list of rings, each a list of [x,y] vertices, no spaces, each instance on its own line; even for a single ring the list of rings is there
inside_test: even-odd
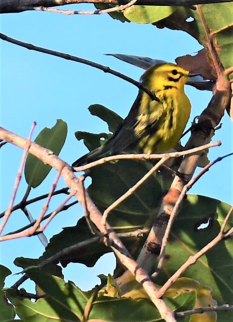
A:
[[[197,73],[190,73],[176,64],[165,63],[151,66],[141,76],[141,81],[152,91],[169,88],[181,89],[189,77],[196,75]]]

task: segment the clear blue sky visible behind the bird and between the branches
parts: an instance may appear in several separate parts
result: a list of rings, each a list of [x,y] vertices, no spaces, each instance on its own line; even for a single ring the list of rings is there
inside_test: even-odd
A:
[[[70,5],[66,8],[93,10],[93,5]],[[124,53],[174,62],[176,57],[202,48],[195,39],[182,31],[157,29],[152,25],[123,24],[107,14],[67,16],[33,11],[4,14],[1,15],[1,27],[1,32],[12,38],[98,62],[135,80],[139,80],[142,69],[103,54]],[[75,131],[108,131],[107,125],[93,117],[88,107],[99,103],[124,118],[137,96],[138,89],[132,84],[90,66],[29,51],[2,40],[0,44],[1,126],[28,137],[32,122],[36,121],[33,133],[35,138],[44,127],[50,128],[56,119],[62,118],[68,124],[68,135],[60,157],[70,164],[87,152],[83,143],[75,139]],[[186,86],[186,93],[192,104],[191,121],[207,106],[211,92]],[[222,128],[213,138],[220,139],[222,146],[210,150],[210,160],[233,151],[232,121],[225,115],[222,123]],[[10,144],[0,150],[1,211],[8,206],[22,154],[21,149]],[[55,175],[55,171],[51,171],[46,180],[31,192],[30,198],[47,193]],[[208,195],[233,204],[232,177],[231,157],[213,166],[190,193]],[[58,186],[65,186],[63,179],[60,179]],[[21,201],[26,187],[22,178],[15,203]],[[49,211],[55,209],[62,200],[54,198]],[[35,218],[42,205],[43,202],[40,202],[29,207]],[[82,215],[83,209],[79,205],[58,214],[45,230],[45,235],[50,239],[62,227],[75,225]],[[4,232],[13,231],[27,223],[25,215],[16,211],[12,213]],[[13,264],[15,257],[37,258],[43,251],[44,246],[36,236],[2,242],[0,262],[16,273],[20,269]],[[69,264],[63,273],[66,280],[73,280],[86,290],[99,282],[96,275],[112,273],[114,265],[113,255],[107,254],[94,268]],[[18,276],[7,278],[6,286],[12,285],[17,279]]]

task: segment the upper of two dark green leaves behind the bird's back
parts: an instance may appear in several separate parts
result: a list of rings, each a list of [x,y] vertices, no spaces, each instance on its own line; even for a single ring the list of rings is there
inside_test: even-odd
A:
[[[88,109],[92,115],[98,116],[103,121],[108,123],[108,128],[111,132],[115,132],[116,129],[123,122],[123,118],[121,118],[117,113],[113,112],[111,109],[108,109],[103,105],[93,104],[89,106]]]

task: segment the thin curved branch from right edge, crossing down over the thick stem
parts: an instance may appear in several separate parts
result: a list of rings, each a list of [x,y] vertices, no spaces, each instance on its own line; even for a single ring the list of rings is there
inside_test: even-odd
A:
[[[208,165],[206,165],[201,171],[199,171],[199,173],[197,175],[195,175],[188,183],[187,185],[184,185],[181,193],[180,193],[180,196],[170,214],[170,218],[169,218],[169,221],[168,221],[168,225],[166,227],[166,230],[165,230],[165,233],[164,233],[164,236],[163,236],[163,239],[162,239],[162,245],[161,245],[161,250],[160,250],[160,257],[159,257],[159,262],[158,262],[158,265],[157,265],[157,270],[155,273],[152,274],[153,277],[157,276],[159,271],[161,270],[162,268],[162,262],[163,262],[163,259],[164,259],[164,256],[165,256],[165,248],[166,248],[166,245],[167,245],[167,242],[168,242],[168,237],[169,237],[169,234],[170,234],[170,229],[171,229],[171,226],[175,220],[175,217],[176,217],[176,214],[178,213],[178,209],[180,207],[180,204],[182,202],[182,200],[184,199],[186,193],[189,191],[189,189],[191,189],[191,187],[200,179],[200,177],[202,175],[204,175],[207,171],[209,171],[209,168],[211,166],[213,166],[215,163],[221,161],[222,159],[226,158],[227,156],[231,156],[233,155],[233,153],[229,153],[225,156],[220,156],[218,157],[217,159],[215,159],[214,161],[210,162]],[[225,219],[226,223],[228,221],[228,216],[226,217]],[[226,225],[226,223],[223,223],[222,225],[222,228],[221,228],[221,232],[223,232],[223,229]]]

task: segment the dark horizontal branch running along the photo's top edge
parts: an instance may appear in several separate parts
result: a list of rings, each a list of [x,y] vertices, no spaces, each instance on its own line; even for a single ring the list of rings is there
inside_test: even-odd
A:
[[[210,3],[231,2],[232,0],[138,0],[137,5],[179,5],[192,7]],[[108,3],[116,5],[126,5],[129,0],[1,0],[0,13],[22,12],[34,10],[34,7],[55,7],[58,5],[78,4],[78,3]]]

